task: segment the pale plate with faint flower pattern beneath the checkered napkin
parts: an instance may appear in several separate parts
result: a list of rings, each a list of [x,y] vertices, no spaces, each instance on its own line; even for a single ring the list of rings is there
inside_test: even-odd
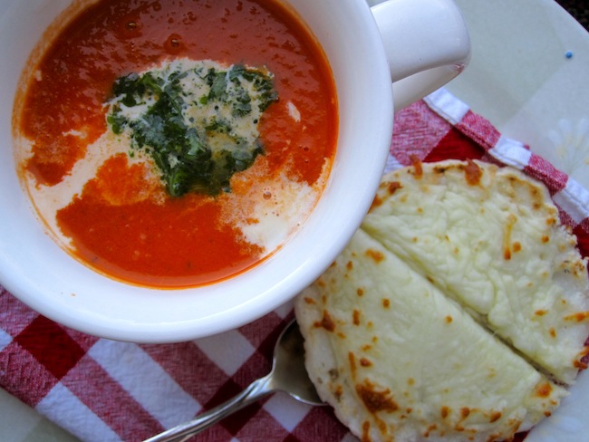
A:
[[[449,91],[508,138],[529,144],[589,187],[589,34],[553,0],[456,2],[468,23],[473,56]],[[38,417],[31,418],[34,411],[14,407],[6,396],[0,394],[2,440],[47,436],[46,424],[38,427]],[[584,440],[589,434],[584,398],[589,398],[587,372],[526,442]]]

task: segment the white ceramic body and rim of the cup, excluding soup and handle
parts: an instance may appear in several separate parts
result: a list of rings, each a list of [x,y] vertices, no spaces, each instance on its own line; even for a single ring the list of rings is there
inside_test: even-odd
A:
[[[236,328],[289,301],[333,262],[372,202],[392,132],[391,70],[369,7],[290,2],[323,45],[339,101],[337,153],[323,196],[274,255],[207,286],[158,290],[114,281],[53,242],[15,172],[12,106],[0,111],[0,283],[78,331],[122,341],[188,341]],[[69,0],[0,0],[0,98],[13,103],[29,54]]]

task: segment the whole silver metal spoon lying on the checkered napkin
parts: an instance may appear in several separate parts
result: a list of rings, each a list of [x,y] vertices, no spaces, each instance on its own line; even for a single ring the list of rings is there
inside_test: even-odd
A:
[[[192,437],[226,418],[240,408],[246,407],[275,391],[284,391],[294,399],[310,405],[325,405],[315,391],[304,368],[303,336],[296,321],[290,322],[280,333],[274,349],[272,370],[259,380],[255,380],[233,399],[216,408],[202,413],[177,427],[159,433],[144,442],[180,442]]]

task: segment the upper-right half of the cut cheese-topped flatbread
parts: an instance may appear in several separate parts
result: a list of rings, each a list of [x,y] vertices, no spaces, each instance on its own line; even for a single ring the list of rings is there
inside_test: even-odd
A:
[[[384,178],[362,229],[571,383],[589,323],[566,318],[589,310],[587,268],[546,187],[513,168],[480,168],[465,185],[462,163],[426,167],[421,177],[401,170]],[[392,183],[401,187],[391,193]]]

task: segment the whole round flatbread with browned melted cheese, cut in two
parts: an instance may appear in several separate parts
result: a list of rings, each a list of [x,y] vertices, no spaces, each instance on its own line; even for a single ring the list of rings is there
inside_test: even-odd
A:
[[[585,367],[588,287],[544,186],[444,161],[383,178],[295,312],[311,379],[362,440],[498,441]]]

